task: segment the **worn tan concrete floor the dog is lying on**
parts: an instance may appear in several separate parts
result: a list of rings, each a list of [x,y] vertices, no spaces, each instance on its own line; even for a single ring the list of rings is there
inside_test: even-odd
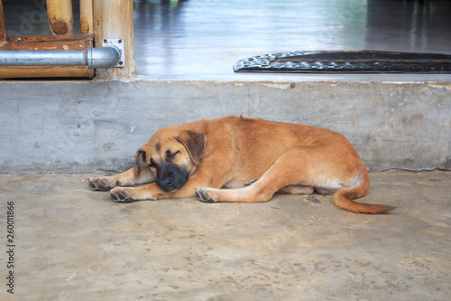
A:
[[[2,300],[446,300],[451,173],[370,174],[364,202],[111,202],[88,174],[0,175],[14,202],[14,296]],[[5,215],[3,215],[5,216]],[[1,222],[5,247],[5,217]],[[0,273],[7,275],[5,251]]]

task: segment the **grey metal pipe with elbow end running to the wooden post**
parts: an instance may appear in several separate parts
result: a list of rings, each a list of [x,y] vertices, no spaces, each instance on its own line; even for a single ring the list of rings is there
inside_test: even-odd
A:
[[[5,50],[0,66],[87,66],[89,69],[115,67],[121,58],[113,46],[85,50]]]

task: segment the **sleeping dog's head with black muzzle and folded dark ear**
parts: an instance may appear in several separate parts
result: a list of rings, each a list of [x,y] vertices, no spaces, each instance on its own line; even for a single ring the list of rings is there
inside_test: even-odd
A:
[[[163,128],[136,153],[135,174],[139,174],[140,158],[143,158],[161,190],[174,192],[194,174],[206,145],[207,136],[202,133]]]

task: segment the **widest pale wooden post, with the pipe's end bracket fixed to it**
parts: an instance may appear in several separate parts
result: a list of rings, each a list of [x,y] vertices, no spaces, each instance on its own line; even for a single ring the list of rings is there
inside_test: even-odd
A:
[[[133,0],[94,0],[94,43],[101,47],[104,39],[124,41],[125,64],[97,75],[109,79],[136,76],[133,41]]]

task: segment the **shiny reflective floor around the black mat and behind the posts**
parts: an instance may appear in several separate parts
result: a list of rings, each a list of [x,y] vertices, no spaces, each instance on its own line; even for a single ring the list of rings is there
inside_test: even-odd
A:
[[[4,0],[7,32],[49,34],[41,3]],[[276,52],[451,53],[450,15],[448,0],[135,0],[136,66],[139,74],[161,80],[451,80],[233,71],[235,61]]]

